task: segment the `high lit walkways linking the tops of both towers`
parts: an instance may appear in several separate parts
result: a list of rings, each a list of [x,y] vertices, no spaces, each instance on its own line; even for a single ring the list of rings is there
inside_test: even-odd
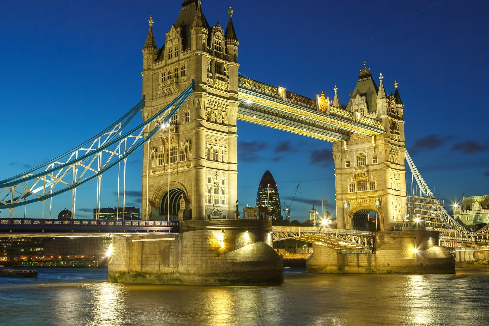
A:
[[[243,76],[238,77],[239,120],[294,132],[329,142],[349,140],[352,133],[374,136],[385,133],[382,124],[365,116],[329,106],[317,109],[316,101]]]

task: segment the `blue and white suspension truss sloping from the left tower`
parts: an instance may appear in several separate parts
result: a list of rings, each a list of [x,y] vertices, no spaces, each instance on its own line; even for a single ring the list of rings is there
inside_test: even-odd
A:
[[[141,147],[166,124],[194,90],[194,82],[168,106],[159,110],[132,130],[122,134],[129,121],[143,108],[144,99],[111,127],[79,147],[31,169],[0,182],[0,209],[44,201],[47,198],[74,190],[76,187],[101,177]],[[153,126],[153,127],[151,127]],[[151,130],[150,130],[151,129]]]

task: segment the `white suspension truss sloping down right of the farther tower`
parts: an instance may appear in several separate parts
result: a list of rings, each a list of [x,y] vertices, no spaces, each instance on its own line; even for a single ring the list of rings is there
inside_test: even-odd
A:
[[[421,193],[424,197],[411,197],[413,198],[412,203],[410,205],[413,205],[413,208],[411,210],[416,209],[416,205],[418,206],[426,206],[427,207],[427,214],[419,214],[419,216],[425,220],[427,228],[433,229],[435,231],[439,231],[440,235],[448,239],[453,238],[454,242],[460,242],[464,243],[464,241],[467,241],[467,239],[470,239],[472,243],[475,242],[481,242],[481,243],[486,243],[483,238],[486,237],[488,239],[489,237],[489,224],[484,226],[482,229],[474,232],[471,230],[467,230],[466,227],[461,225],[457,219],[452,217],[446,210],[444,205],[442,205],[435,197],[435,195],[431,192],[429,189],[428,185],[422,178],[420,172],[414,165],[414,162],[409,155],[409,153],[406,150],[406,161],[407,164],[409,165],[409,168],[411,169],[411,172],[416,179],[416,183],[418,184],[418,187],[421,190]],[[408,211],[410,210],[410,207],[408,207]],[[443,222],[443,225],[437,225],[430,227],[431,224],[436,223],[436,221],[430,220],[430,218],[426,217],[426,215],[432,216],[435,219],[439,219],[439,221]],[[439,224],[439,223],[437,223]]]

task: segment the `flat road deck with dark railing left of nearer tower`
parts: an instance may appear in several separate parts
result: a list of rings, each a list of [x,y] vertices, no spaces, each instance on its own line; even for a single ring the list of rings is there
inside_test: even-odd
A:
[[[12,237],[108,237],[113,234],[178,233],[178,221],[1,218],[0,235]]]

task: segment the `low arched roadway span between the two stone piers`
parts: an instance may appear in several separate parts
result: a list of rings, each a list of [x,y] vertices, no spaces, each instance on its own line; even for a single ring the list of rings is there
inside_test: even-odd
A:
[[[324,227],[274,226],[272,241],[296,239],[319,244],[336,251],[375,250],[375,232],[332,229]]]

